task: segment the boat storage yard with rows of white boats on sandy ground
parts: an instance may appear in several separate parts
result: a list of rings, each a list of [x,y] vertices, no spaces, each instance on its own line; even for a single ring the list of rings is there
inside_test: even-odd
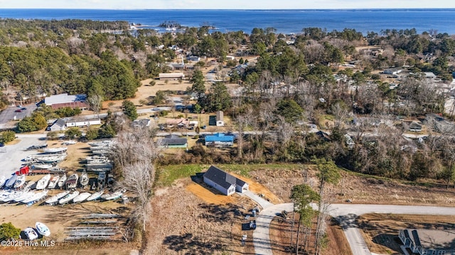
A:
[[[112,189],[112,164],[100,153],[112,142],[47,141],[47,147],[43,136],[18,140],[1,148],[0,212],[23,230],[21,239],[122,239],[127,215],[117,213],[127,212],[127,197],[124,190]],[[73,154],[81,157],[65,162]],[[65,210],[73,215],[65,217]]]

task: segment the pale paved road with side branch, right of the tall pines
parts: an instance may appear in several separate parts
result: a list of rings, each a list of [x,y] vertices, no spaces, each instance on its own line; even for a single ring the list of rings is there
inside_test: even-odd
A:
[[[333,204],[329,214],[343,227],[353,255],[371,255],[365,240],[360,234],[355,219],[366,213],[394,213],[414,215],[455,215],[455,208],[417,205],[353,205]]]

